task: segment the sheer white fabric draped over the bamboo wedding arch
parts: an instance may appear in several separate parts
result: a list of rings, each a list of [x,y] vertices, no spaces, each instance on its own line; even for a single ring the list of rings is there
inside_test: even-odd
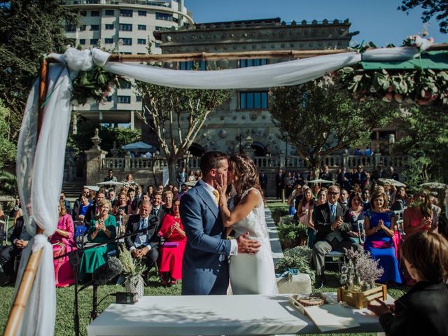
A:
[[[416,55],[416,48],[387,48],[367,50],[363,59],[402,60]],[[62,187],[64,153],[69,132],[71,113],[71,78],[77,71],[90,69],[92,64],[117,75],[135,78],[147,83],[180,88],[236,89],[296,85],[335,71],[343,66],[360,62],[361,54],[344,52],[298,59],[244,69],[220,71],[176,71],[139,64],[106,62],[109,54],[101,50],[69,48],[64,55],[51,54],[60,64],[52,64],[49,71],[48,94],[43,111],[43,125],[36,141],[38,83],[34,85],[20,132],[17,156],[17,176],[20,200],[29,211],[24,211],[27,230],[36,235],[36,225],[43,235],[36,235],[22,255],[18,282],[22,278],[31,249],[43,246],[42,260],[31,290],[27,311],[18,335],[53,335],[55,325],[55,279],[52,264],[52,246],[47,237],[57,227],[57,202]]]

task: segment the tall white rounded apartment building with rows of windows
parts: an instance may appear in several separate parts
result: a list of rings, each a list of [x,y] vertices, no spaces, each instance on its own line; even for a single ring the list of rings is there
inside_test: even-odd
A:
[[[101,46],[122,54],[161,52],[153,32],[193,25],[183,0],[74,0],[62,1],[63,6],[80,13],[78,27],[67,26],[66,36],[76,40],[81,48]],[[130,124],[140,127],[134,117],[141,111],[141,99],[131,85],[120,87],[102,104],[73,106],[73,112],[102,123]]]

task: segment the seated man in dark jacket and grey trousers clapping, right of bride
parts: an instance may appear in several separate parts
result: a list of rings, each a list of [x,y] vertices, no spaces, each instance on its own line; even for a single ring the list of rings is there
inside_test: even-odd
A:
[[[316,207],[316,244],[313,247],[313,262],[316,267],[316,288],[322,288],[325,281],[325,254],[331,251],[344,252],[344,248],[361,249],[353,244],[347,234],[351,230],[349,211],[339,199],[339,187],[328,188],[328,202]]]

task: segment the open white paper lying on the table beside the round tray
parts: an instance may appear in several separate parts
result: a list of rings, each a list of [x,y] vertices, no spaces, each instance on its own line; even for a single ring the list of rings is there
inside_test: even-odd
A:
[[[305,312],[321,332],[359,327],[348,309],[340,304],[304,307]]]

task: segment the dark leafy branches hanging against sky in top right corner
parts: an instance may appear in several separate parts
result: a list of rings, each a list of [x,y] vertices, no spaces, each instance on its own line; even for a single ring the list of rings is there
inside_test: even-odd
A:
[[[398,10],[409,12],[416,7],[421,6],[423,13],[421,20],[428,22],[435,15],[435,19],[439,21],[440,32],[447,34],[448,32],[448,2],[447,0],[402,0],[402,5],[398,6]]]

